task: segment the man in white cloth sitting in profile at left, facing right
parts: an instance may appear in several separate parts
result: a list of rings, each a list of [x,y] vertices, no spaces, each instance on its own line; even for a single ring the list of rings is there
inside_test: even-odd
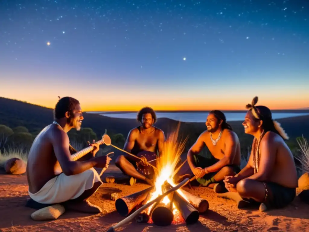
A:
[[[72,97],[61,98],[54,110],[54,122],[45,127],[33,141],[27,162],[27,179],[31,199],[27,206],[43,208],[63,204],[66,209],[100,213],[101,209],[88,202],[102,181],[93,167],[107,168],[110,158],[94,157],[99,150],[91,144],[91,153],[71,161],[74,153],[67,132],[80,130],[83,120],[79,102]],[[72,152],[70,152],[72,151]]]

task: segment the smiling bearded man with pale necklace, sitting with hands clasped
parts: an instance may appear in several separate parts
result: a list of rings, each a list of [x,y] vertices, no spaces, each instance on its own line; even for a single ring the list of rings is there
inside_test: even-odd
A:
[[[207,131],[198,137],[188,151],[188,165],[200,185],[213,187],[217,193],[227,191],[224,188],[224,176],[240,171],[239,139],[219,110],[209,112],[206,126]],[[198,155],[205,146],[211,158]]]

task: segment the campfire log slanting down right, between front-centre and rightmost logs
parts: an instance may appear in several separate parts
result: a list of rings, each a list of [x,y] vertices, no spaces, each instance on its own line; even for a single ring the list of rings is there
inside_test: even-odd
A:
[[[172,186],[169,183],[165,185],[167,189],[171,189]],[[196,208],[193,207],[183,196],[180,195],[177,191],[174,192],[173,203],[176,208],[181,213],[181,216],[184,218],[187,224],[193,224],[198,221],[200,214]]]

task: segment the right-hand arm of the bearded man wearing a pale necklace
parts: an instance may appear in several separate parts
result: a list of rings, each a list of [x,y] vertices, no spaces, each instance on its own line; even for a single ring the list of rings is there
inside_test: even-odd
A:
[[[226,139],[225,139],[225,151],[224,151],[224,157],[219,160],[217,163],[214,165],[211,165],[209,167],[205,168],[205,173],[210,173],[210,172],[216,172],[221,170],[224,166],[226,165],[231,165],[233,164],[235,154],[236,154],[236,137],[234,133],[228,131],[226,134]]]

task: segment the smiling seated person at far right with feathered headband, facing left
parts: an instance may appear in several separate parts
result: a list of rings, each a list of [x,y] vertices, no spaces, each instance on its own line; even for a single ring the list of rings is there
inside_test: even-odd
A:
[[[290,204],[298,179],[293,155],[284,141],[288,136],[272,119],[269,108],[255,106],[257,100],[255,97],[246,106],[248,112],[243,122],[245,133],[254,136],[248,164],[224,182],[229,191],[237,192],[244,201],[263,203],[260,210],[264,211]]]

